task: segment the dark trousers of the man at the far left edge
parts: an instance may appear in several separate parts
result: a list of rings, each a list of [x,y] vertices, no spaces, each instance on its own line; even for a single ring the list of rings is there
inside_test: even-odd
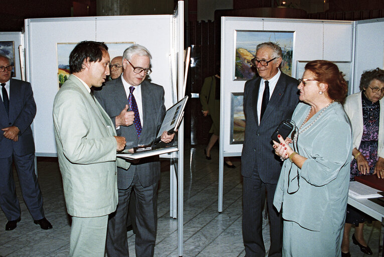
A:
[[[23,199],[34,220],[44,218],[43,197],[35,174],[35,154],[0,158],[0,206],[8,220],[21,216],[12,163],[18,173]]]

